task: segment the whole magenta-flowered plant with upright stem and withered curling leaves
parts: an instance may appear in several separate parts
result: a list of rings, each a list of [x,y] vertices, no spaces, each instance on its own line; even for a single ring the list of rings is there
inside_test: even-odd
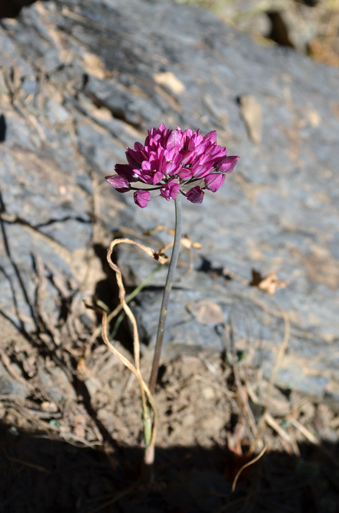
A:
[[[157,339],[154,349],[154,357],[151,369],[149,385],[143,380],[139,368],[139,337],[133,312],[125,301],[125,290],[122,284],[121,271],[111,260],[115,244],[134,244],[149,254],[160,263],[165,263],[163,253],[147,248],[129,239],[118,239],[111,243],[108,251],[108,262],[116,272],[119,286],[119,298],[121,307],[128,315],[133,326],[134,360],[133,365],[122,356],[109,342],[107,338],[107,321],[103,312],[102,334],[105,343],[120,358],[138,379],[141,402],[142,418],[145,441],[144,464],[145,469],[152,470],[154,462],[154,444],[158,422],[157,408],[154,401],[154,392],[160,362],[162,340],[164,336],[166,315],[168,309],[169,293],[171,292],[175,268],[178,261],[181,239],[181,195],[192,203],[201,203],[204,190],[216,192],[224,183],[225,173],[230,173],[238,156],[227,156],[226,148],[217,144],[217,132],[212,131],[201,135],[200,130],[194,132],[192,128],[182,131],[180,127],[170,130],[162,123],[158,128],[149,130],[144,145],[135,143],[134,149],[126,148],[128,164],[116,164],[117,174],[106,176],[106,180],[118,192],[134,190],[134,201],[141,207],[146,207],[151,200],[152,190],[159,190],[165,200],[175,200],[175,234],[171,260],[168,265],[166,283],[164,286],[162,303],[160,308]],[[135,183],[145,184],[135,187]],[[131,185],[134,184],[134,185]],[[150,186],[150,187],[147,187]],[[113,312],[112,312],[113,313]],[[145,475],[147,474],[147,471]],[[149,477],[151,476],[148,473]],[[149,478],[146,478],[146,481]]]

